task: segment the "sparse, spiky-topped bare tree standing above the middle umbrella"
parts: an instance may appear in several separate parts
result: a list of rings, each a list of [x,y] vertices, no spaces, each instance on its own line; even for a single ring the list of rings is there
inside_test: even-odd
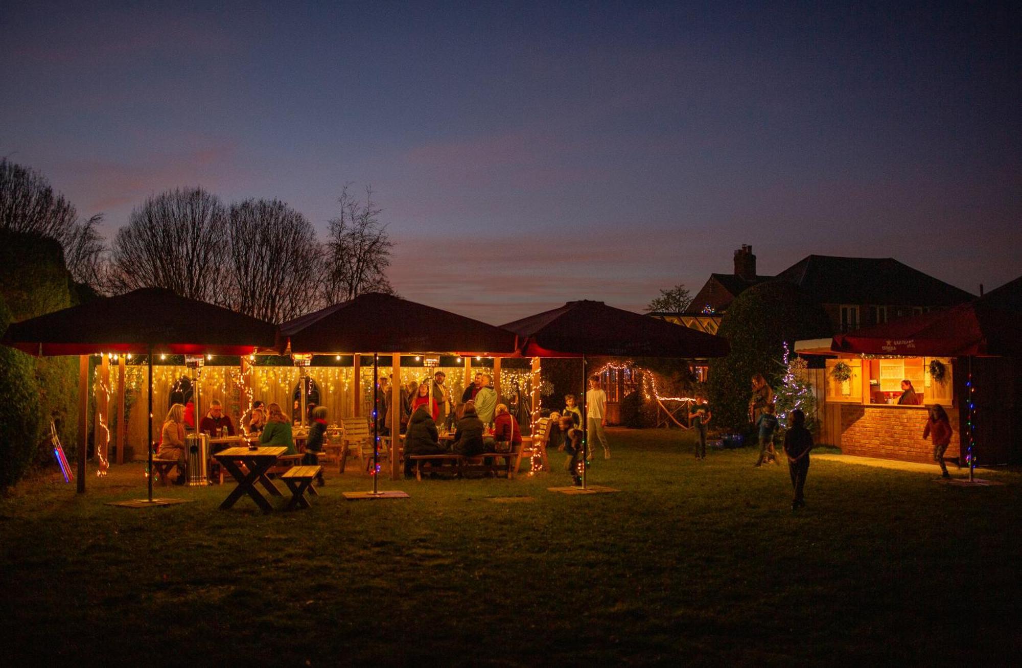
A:
[[[350,184],[349,184],[350,185]],[[393,242],[386,225],[379,222],[382,209],[366,188],[364,202],[356,199],[345,185],[337,199],[340,214],[330,221],[326,247],[325,278],[320,290],[327,303],[352,299],[363,292],[393,293],[386,279]]]

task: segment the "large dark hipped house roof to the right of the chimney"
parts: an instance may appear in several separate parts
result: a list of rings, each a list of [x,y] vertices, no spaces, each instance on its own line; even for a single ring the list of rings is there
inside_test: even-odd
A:
[[[820,303],[949,306],[975,297],[893,257],[808,255],[777,278]]]

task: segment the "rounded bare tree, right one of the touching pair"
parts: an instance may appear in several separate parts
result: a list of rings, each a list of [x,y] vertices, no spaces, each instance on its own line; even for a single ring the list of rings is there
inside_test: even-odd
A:
[[[247,199],[228,212],[230,305],[271,323],[310,311],[322,252],[305,216],[279,200]]]

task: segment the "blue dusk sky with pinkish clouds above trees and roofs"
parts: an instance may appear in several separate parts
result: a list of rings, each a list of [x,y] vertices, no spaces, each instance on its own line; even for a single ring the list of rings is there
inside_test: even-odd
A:
[[[322,234],[371,184],[394,288],[492,323],[743,243],[1022,275],[1019,4],[849,4],[5,2],[0,154],[108,238],[192,185]]]

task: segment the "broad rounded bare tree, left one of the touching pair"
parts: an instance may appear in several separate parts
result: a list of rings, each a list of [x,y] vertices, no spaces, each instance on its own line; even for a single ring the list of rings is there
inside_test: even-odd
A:
[[[118,230],[109,287],[160,287],[193,299],[228,302],[227,209],[201,188],[168,190],[136,207]]]

